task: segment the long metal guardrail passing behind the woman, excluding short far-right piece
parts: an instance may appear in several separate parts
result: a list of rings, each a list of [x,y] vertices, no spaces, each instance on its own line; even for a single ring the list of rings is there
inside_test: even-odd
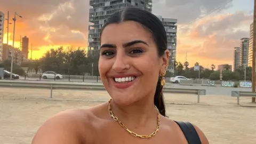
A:
[[[50,98],[52,98],[53,90],[94,90],[105,91],[105,87],[99,83],[71,83],[71,82],[39,82],[39,81],[0,81],[0,87],[19,88],[19,89],[47,89],[50,90]],[[206,95],[206,90],[201,89],[173,89],[163,88],[165,93],[176,94],[195,94],[197,95],[197,103],[200,102],[200,95]]]

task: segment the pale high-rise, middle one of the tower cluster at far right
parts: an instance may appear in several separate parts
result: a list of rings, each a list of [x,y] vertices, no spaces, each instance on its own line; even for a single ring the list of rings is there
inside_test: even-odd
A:
[[[240,39],[240,59],[239,66],[247,67],[248,66],[248,48],[249,48],[249,38]]]

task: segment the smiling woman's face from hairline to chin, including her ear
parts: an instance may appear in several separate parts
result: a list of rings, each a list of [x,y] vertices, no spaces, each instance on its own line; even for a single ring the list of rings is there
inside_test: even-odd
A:
[[[99,72],[109,95],[119,105],[153,99],[169,51],[158,57],[151,33],[139,23],[110,24],[102,31]]]

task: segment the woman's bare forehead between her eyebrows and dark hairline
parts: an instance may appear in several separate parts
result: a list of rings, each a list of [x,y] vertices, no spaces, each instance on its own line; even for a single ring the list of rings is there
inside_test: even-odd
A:
[[[110,24],[101,34],[101,43],[124,43],[134,39],[140,39],[148,44],[153,42],[151,33],[135,21]]]

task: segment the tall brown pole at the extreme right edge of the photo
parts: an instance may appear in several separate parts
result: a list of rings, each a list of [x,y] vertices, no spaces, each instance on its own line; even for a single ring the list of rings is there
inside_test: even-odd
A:
[[[255,72],[256,72],[256,0],[254,0],[253,10],[253,44],[252,44],[252,92],[255,92]],[[255,98],[252,98],[252,103],[255,103]]]

